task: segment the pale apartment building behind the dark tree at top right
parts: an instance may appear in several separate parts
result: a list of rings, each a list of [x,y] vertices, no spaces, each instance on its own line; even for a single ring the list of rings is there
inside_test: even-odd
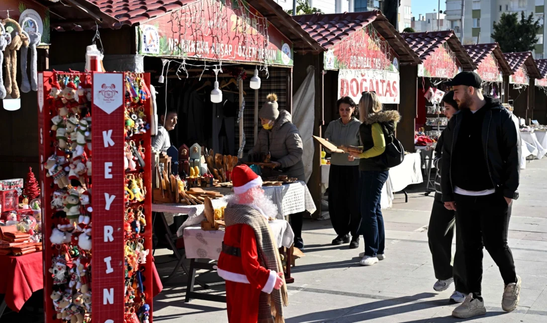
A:
[[[544,43],[544,5],[545,0],[465,0],[463,43],[493,43],[491,34],[494,21],[499,21],[503,13],[519,13],[520,19],[520,13],[524,11],[525,16],[533,13],[542,25],[534,49],[534,58],[542,59],[547,50]]]

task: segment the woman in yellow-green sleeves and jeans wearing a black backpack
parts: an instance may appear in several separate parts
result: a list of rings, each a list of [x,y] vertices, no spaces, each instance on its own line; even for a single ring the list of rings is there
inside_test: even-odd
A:
[[[386,151],[386,137],[395,133],[400,116],[397,111],[383,110],[375,92],[363,92],[359,101],[359,136],[363,143],[362,154],[352,152],[359,159],[359,199],[361,232],[365,242],[365,254],[359,262],[371,266],[386,259],[384,253],[386,234],[381,210],[382,187],[386,184],[389,167],[381,162]]]

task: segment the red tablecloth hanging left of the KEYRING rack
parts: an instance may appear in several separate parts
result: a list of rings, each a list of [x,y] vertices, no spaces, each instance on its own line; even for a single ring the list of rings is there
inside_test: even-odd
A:
[[[15,312],[23,307],[32,293],[44,288],[42,251],[22,256],[0,256],[0,294]]]

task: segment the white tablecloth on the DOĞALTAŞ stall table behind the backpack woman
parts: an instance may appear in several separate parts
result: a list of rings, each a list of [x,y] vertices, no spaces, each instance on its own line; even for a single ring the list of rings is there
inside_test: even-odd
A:
[[[420,184],[423,182],[422,171],[420,169],[422,161],[420,153],[405,155],[403,163],[389,169],[389,177],[386,184],[382,187],[381,203],[382,209],[390,208],[393,204],[393,193],[405,189],[410,184]],[[330,165],[321,165],[321,183],[324,189],[329,187]]]

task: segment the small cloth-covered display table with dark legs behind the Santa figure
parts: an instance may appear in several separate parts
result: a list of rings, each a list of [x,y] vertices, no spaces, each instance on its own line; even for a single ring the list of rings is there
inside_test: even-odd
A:
[[[286,220],[269,221],[270,228],[276,239],[277,246],[280,249],[287,248],[288,252],[284,252],[287,257],[287,272],[285,279],[287,283],[294,281],[290,277],[290,263],[292,257],[292,249],[294,242],[294,232]],[[213,302],[226,302],[225,296],[209,295],[194,291],[196,281],[196,270],[205,269],[213,271],[216,269],[212,263],[198,262],[196,259],[218,260],[220,251],[222,250],[222,242],[224,241],[224,230],[203,231],[199,226],[186,227],[183,230],[184,248],[186,257],[190,259],[190,269],[188,277],[188,286],[186,292],[186,302],[190,299],[204,299]],[[280,250],[280,253],[283,252]]]

